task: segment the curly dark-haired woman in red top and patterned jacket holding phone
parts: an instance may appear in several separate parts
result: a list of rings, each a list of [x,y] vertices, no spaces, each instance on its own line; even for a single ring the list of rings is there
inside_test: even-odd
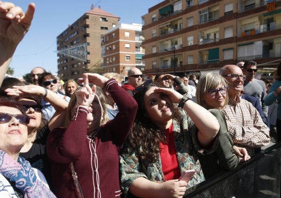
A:
[[[202,106],[150,82],[134,90],[138,111],[120,155],[121,187],[136,197],[179,198],[205,179],[197,153],[214,151],[220,126]],[[195,174],[179,180],[185,170]]]

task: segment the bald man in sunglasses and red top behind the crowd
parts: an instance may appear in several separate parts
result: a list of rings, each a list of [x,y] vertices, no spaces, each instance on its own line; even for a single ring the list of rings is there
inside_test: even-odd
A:
[[[128,71],[128,82],[122,85],[131,96],[133,96],[132,91],[143,83],[143,74],[142,72],[134,67]]]

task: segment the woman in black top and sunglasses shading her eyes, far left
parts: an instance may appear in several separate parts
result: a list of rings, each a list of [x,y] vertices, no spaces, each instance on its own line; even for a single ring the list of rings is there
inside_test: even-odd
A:
[[[20,156],[28,160],[32,167],[41,170],[51,185],[51,171],[46,153],[47,136],[50,133],[48,126],[42,120],[42,105],[40,100],[43,96],[59,114],[67,108],[68,102],[56,93],[39,85],[13,86],[5,90],[8,96],[18,97],[19,103],[23,105],[26,114],[30,117],[27,125],[28,137],[22,147]]]

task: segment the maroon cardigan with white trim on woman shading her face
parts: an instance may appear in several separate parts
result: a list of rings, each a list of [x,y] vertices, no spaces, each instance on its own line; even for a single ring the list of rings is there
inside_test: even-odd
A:
[[[84,198],[93,198],[94,193],[98,196],[98,182],[102,198],[120,197],[119,150],[132,127],[137,103],[117,83],[111,84],[108,91],[118,105],[119,113],[93,138],[96,152],[92,146],[91,151],[89,149],[84,111],[78,111],[77,119],[71,120],[67,128],[56,128],[48,136],[47,154],[51,159],[54,194],[58,198],[77,197],[70,162],[74,163]]]

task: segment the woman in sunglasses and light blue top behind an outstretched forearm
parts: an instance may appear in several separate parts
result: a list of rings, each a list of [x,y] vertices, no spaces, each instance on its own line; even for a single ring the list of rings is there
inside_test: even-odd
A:
[[[52,75],[51,73],[45,72],[41,74],[39,80],[39,85],[43,86],[46,89],[51,90],[52,92],[56,93],[61,98],[65,99],[65,101],[69,102],[70,98],[68,96],[62,95],[58,92],[58,80],[57,78]],[[43,120],[47,123],[52,116],[55,114],[55,108],[50,104],[50,102],[46,101],[43,97],[41,104],[43,106],[42,114]]]

